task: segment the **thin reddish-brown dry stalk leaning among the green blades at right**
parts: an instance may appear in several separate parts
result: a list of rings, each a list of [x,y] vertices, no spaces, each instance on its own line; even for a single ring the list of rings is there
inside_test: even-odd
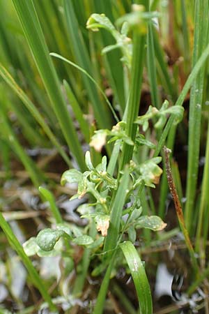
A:
[[[165,156],[167,180],[168,180],[171,196],[173,198],[174,207],[176,209],[176,214],[177,214],[177,217],[178,217],[178,223],[180,225],[180,229],[182,230],[182,232],[184,234],[185,243],[186,243],[187,248],[189,250],[189,254],[190,254],[190,257],[191,257],[194,269],[196,271],[198,271],[198,264],[196,262],[196,257],[194,255],[194,248],[192,246],[191,240],[189,239],[189,234],[188,234],[187,228],[185,226],[185,218],[184,218],[184,215],[183,215],[183,209],[181,207],[180,200],[178,198],[176,186],[175,186],[175,183],[173,181],[173,175],[172,175],[172,172],[171,172],[171,165],[170,165],[170,160],[169,160],[171,149],[168,149],[167,147],[164,146],[163,150],[164,150],[164,156]]]

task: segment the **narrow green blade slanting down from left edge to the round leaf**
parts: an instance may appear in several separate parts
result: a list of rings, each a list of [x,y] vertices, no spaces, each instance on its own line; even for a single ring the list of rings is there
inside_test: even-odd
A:
[[[26,96],[24,91],[22,91],[22,89],[20,89],[20,87],[15,83],[15,81],[13,80],[13,77],[11,77],[10,73],[8,73],[6,68],[3,68],[1,63],[0,63],[0,75],[1,75],[1,77],[3,77],[3,80],[5,80],[5,82],[11,87],[11,89],[13,89],[13,91],[15,91],[17,96],[20,97],[20,99],[22,100],[22,102],[26,106],[27,110],[29,110],[29,112],[31,112],[33,117],[38,122],[38,124],[40,124],[42,129],[45,131],[46,135],[49,137],[49,140],[52,141],[52,144],[54,144],[56,149],[59,151],[59,154],[61,154],[61,156],[63,157],[63,159],[67,163],[67,165],[69,165],[69,167],[70,167],[70,165],[71,165],[70,159],[68,158],[67,154],[65,154],[65,151],[63,150],[63,148],[61,147],[59,142],[56,140],[56,137],[52,133],[52,130],[50,130],[50,128],[47,126],[45,119],[42,118],[42,116],[38,112],[38,109],[36,108],[36,106],[33,105],[33,103]]]

